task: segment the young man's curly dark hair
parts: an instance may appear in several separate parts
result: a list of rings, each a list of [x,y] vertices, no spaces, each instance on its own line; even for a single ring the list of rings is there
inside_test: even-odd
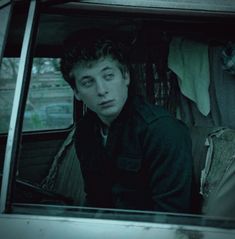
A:
[[[72,70],[79,63],[88,64],[110,56],[118,61],[119,68],[124,74],[129,71],[127,49],[127,46],[116,40],[113,33],[100,29],[80,30],[65,40],[60,69],[65,81],[72,88],[75,87]]]

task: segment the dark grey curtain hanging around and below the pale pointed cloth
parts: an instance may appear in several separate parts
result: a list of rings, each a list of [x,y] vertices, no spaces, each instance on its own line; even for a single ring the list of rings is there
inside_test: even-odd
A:
[[[224,126],[235,129],[235,75],[225,71],[221,62],[221,45],[209,45],[210,113],[205,116],[197,105],[180,95],[180,116],[187,125],[199,127]]]

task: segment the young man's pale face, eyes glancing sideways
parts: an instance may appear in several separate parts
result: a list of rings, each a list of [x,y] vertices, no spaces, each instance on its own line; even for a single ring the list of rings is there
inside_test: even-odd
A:
[[[105,57],[91,64],[75,66],[73,74],[76,98],[110,125],[127,100],[129,73],[122,74],[119,63]]]

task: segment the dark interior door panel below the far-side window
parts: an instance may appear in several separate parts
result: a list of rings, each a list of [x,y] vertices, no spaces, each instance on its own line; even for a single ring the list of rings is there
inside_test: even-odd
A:
[[[68,130],[69,131],[69,130]],[[70,203],[63,195],[57,195],[40,187],[48,174],[54,156],[63,144],[68,131],[24,133],[18,160],[13,201],[21,203],[41,203],[53,201]],[[1,172],[4,161],[6,135],[0,137]]]

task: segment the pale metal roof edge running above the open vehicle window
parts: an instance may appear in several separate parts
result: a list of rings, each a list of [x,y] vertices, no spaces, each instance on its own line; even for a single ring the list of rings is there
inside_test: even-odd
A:
[[[105,10],[105,11],[127,11],[127,12],[164,12],[177,14],[197,14],[197,15],[220,15],[234,14],[235,5],[233,0],[42,0],[45,6],[52,6],[56,9],[67,10]]]

